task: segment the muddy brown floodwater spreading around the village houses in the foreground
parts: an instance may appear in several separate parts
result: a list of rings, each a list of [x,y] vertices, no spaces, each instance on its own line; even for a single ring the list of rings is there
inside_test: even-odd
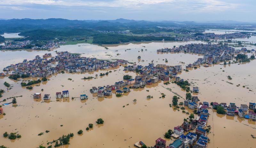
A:
[[[188,43],[204,42],[144,42],[106,45],[109,48],[108,50],[97,45],[79,44],[80,46],[64,45],[54,51],[82,53],[82,56],[99,59],[126,59],[139,65],[148,65],[153,60],[155,64],[172,66],[179,64],[185,68],[187,64],[194,62],[203,55],[188,53],[161,54],[156,53],[156,50]],[[5,66],[22,62],[23,59],[31,60],[36,55],[42,56],[44,53],[52,53],[54,56],[54,51],[0,51],[0,71]],[[137,59],[138,56],[141,56],[140,60]],[[165,63],[165,58],[168,63]],[[185,62],[185,64],[181,62]],[[255,65],[256,60],[240,65],[201,66],[197,69],[190,69],[189,72],[183,71],[179,76],[191,82],[191,88],[192,86],[199,87],[200,92],[193,95],[197,95],[201,102],[216,101],[227,104],[234,102],[237,106],[240,106],[240,104],[248,105],[249,102],[256,102]],[[184,90],[173,83],[164,85],[164,82],[160,81],[153,85],[147,85],[144,89],[132,89],[131,92],[125,93],[122,97],[116,97],[113,94],[110,97],[98,98],[96,94],[90,93],[92,86],[112,85],[123,80],[124,74],[132,75],[133,78],[137,75],[134,72],[123,71],[123,69],[123,66],[109,69],[112,73],[91,80],[81,80],[81,78],[84,76],[95,77],[95,74],[99,75],[109,70],[83,74],[56,74],[48,77],[50,80],[47,82],[33,85],[33,90],[26,90],[26,88],[21,87],[21,81],[0,77],[0,89],[6,91],[0,101],[4,98],[22,95],[22,97],[17,97],[18,106],[3,106],[6,115],[0,115],[0,134],[5,131],[8,133],[18,132],[22,137],[11,141],[0,136],[1,144],[11,148],[38,147],[40,144],[46,146],[47,142],[72,132],[75,136],[70,139],[70,145],[61,146],[62,148],[134,147],[133,144],[137,141],[143,141],[148,146],[153,146],[158,137],[164,138],[163,135],[168,129],[181,125],[183,119],[188,118],[188,115],[182,113],[182,110],[178,111],[169,107],[169,104],[172,103],[172,97],[175,95],[173,92],[182,97],[179,102],[184,101],[183,98],[186,94]],[[233,79],[228,80],[228,75]],[[68,78],[72,80],[68,80]],[[32,79],[36,78],[23,80]],[[3,85],[5,81],[13,86],[11,90],[7,90]],[[237,87],[238,84],[240,86]],[[243,88],[243,85],[246,87]],[[172,92],[166,88],[172,89]],[[55,93],[62,90],[69,90],[70,97],[56,99]],[[41,92],[42,95],[50,94],[51,99],[45,102],[42,99],[34,100],[32,94],[35,92]],[[161,93],[166,95],[165,98],[159,98],[162,96]],[[88,95],[88,100],[81,101],[80,98],[76,98],[80,94]],[[153,96],[153,98],[147,99],[146,96],[148,95]],[[71,99],[71,97],[75,98]],[[137,102],[134,103],[133,99],[137,99]],[[11,99],[8,99],[5,103],[9,102],[11,102]],[[192,112],[187,107],[186,111]],[[255,121],[237,116],[219,115],[211,109],[210,114],[208,125],[211,125],[212,129],[211,133],[208,134],[211,139],[208,145],[209,148],[249,148],[255,146],[255,139],[251,137],[251,135],[255,136],[256,133]],[[104,120],[103,125],[96,125],[95,121],[98,118]],[[88,127],[89,123],[93,123],[94,127],[86,131],[85,128]],[[79,129],[84,131],[83,135],[77,135]],[[45,133],[45,130],[50,132]],[[41,132],[44,132],[44,135],[37,136]],[[167,144],[173,142],[173,140],[166,140]]]

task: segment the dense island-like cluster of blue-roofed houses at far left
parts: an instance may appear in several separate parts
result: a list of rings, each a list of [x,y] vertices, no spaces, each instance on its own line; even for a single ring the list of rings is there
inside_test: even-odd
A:
[[[53,65],[52,62],[58,62]],[[46,53],[41,58],[39,55],[33,60],[24,59],[23,62],[4,67],[6,74],[25,74],[32,77],[47,77],[60,71],[68,72],[92,72],[98,69],[108,69],[117,67],[119,64],[127,64],[125,60],[107,61],[96,58],[80,57],[79,54],[71,54],[68,51],[57,52],[57,56],[52,57],[51,53]]]

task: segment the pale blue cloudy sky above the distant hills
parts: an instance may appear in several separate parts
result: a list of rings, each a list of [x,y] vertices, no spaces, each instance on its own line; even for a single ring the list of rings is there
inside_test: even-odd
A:
[[[0,0],[1,19],[256,22],[256,0]]]

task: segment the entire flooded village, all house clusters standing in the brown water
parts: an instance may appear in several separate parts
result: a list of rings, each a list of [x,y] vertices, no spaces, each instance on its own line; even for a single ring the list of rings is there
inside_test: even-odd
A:
[[[243,34],[236,35],[240,37],[240,35]],[[244,35],[242,37],[244,37]],[[46,53],[43,57],[36,56],[33,60],[24,59],[21,63],[4,67],[3,70],[5,73],[0,73],[0,76],[9,76],[9,78],[16,80],[17,78],[42,77],[43,81],[45,77],[52,74],[64,73],[65,71],[69,73],[84,73],[93,72],[99,69],[108,70],[118,66],[124,66],[124,71],[139,74],[134,78],[130,75],[124,75],[124,81],[113,82],[107,86],[100,86],[100,84],[98,84],[99,86],[96,86],[95,84],[95,86],[90,89],[90,92],[97,94],[97,97],[111,96],[114,95],[114,93],[117,97],[121,97],[133,89],[144,88],[146,85],[152,85],[161,80],[167,85],[170,82],[176,83],[182,89],[186,90],[186,98],[181,98],[178,95],[174,96],[170,107],[174,106],[177,110],[181,109],[182,112],[188,113],[184,108],[187,106],[189,109],[193,110],[193,113],[188,113],[188,115],[190,114],[189,118],[184,118],[184,121],[181,121],[180,125],[173,127],[173,129],[168,130],[165,134],[163,133],[164,138],[174,139],[172,143],[167,144],[167,141],[164,140],[163,137],[159,137],[156,139],[155,145],[152,145],[154,148],[206,148],[208,143],[210,143],[210,138],[207,137],[207,134],[211,130],[211,126],[207,126],[210,109],[215,109],[217,110],[217,113],[220,114],[227,114],[228,116],[237,115],[241,118],[256,121],[256,113],[254,112],[256,106],[255,102],[241,105],[229,102],[204,102],[196,95],[191,95],[192,92],[198,93],[200,91],[200,86],[193,86],[190,90],[189,82],[179,77],[179,74],[182,73],[182,71],[192,70],[193,68],[196,69],[198,66],[206,67],[223,61],[226,62],[226,60],[232,61],[238,54],[245,55],[247,53],[246,48],[235,50],[226,44],[212,44],[211,42],[208,42],[207,44],[186,44],[180,45],[179,47],[164,48],[156,50],[156,52],[198,53],[203,54],[204,56],[203,58],[198,58],[195,62],[188,64],[186,69],[183,69],[182,65],[168,66],[165,64],[154,64],[152,61],[148,66],[141,66],[122,59],[100,60],[97,58],[81,57],[80,54],[72,54],[68,51],[60,51],[56,52],[56,56],[52,56],[51,53]],[[238,60],[240,59],[238,58]],[[108,71],[106,74],[108,73],[111,73],[111,71]],[[83,79],[93,79],[93,77],[84,77]],[[21,85],[29,87],[30,84],[41,82],[41,80],[38,80],[33,80],[28,83],[21,82]],[[88,99],[88,94],[79,95],[81,100]],[[56,91],[56,96],[50,96],[47,92],[45,94],[34,92],[33,98],[49,100],[54,97],[66,98],[69,96],[69,90],[59,90]],[[165,95],[163,94],[162,97],[164,96]],[[145,99],[150,99],[152,97],[153,96],[146,96]],[[184,100],[180,101],[181,99]],[[180,102],[179,104],[178,100]],[[136,100],[134,100],[134,102],[136,102]],[[2,113],[4,113],[3,107],[0,108],[0,114]],[[139,139],[137,140],[138,142],[134,143],[134,146],[139,148],[146,147],[146,143],[139,141]]]

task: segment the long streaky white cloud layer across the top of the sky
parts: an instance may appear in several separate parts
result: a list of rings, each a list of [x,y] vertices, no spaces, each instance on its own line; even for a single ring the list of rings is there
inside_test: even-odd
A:
[[[180,10],[182,12],[209,12],[234,9],[238,5],[220,0],[0,0],[0,5],[51,5],[65,7],[101,7],[145,10],[149,7]],[[150,10],[148,10],[150,11]]]

